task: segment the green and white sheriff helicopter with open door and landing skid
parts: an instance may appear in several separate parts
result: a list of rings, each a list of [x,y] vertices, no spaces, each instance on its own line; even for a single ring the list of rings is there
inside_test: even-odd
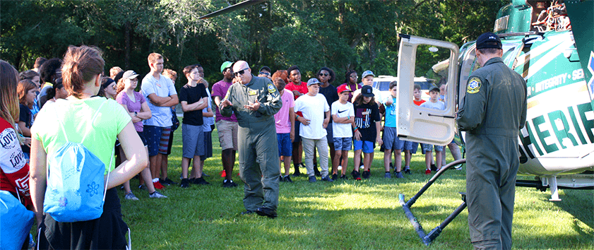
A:
[[[504,63],[526,81],[527,119],[520,130],[516,186],[546,191],[550,201],[560,201],[559,189],[593,189],[594,174],[594,1],[512,0],[497,13],[494,30],[501,38]],[[578,20],[571,23],[570,20]],[[479,68],[475,41],[458,47],[451,42],[400,34],[398,83],[412,83],[417,55],[434,53],[439,63],[434,76],[446,85],[446,109],[425,109],[412,103],[413,86],[398,85],[398,136],[408,141],[447,145],[454,137],[463,144],[464,133],[456,131],[456,107],[466,93],[470,73]],[[441,57],[440,57],[441,56]],[[443,58],[441,60],[440,58]],[[431,131],[427,133],[427,131]],[[457,135],[457,136],[456,136]],[[410,207],[448,169],[460,167],[456,160],[442,167],[419,193],[400,204],[424,244],[429,245],[446,225],[465,209],[463,203],[438,227],[426,234]]]

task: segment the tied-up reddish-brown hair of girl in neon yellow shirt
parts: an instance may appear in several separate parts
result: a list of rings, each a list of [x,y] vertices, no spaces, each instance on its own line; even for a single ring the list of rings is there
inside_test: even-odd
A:
[[[80,98],[85,83],[103,72],[105,61],[96,47],[69,46],[62,64],[62,81],[70,95]]]

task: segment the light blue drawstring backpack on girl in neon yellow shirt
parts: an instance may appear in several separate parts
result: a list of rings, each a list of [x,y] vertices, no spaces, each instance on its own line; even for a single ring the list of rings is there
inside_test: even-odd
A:
[[[95,112],[81,143],[69,141],[63,121],[58,120],[67,142],[47,157],[47,189],[43,203],[43,212],[57,222],[94,220],[103,213],[107,193],[103,184],[105,164],[83,142],[105,102]],[[110,169],[112,160],[113,152]]]

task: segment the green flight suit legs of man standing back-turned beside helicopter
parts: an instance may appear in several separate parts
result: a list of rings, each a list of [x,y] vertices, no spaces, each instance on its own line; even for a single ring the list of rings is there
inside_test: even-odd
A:
[[[511,249],[518,138],[466,133],[466,145],[470,240],[475,249]]]

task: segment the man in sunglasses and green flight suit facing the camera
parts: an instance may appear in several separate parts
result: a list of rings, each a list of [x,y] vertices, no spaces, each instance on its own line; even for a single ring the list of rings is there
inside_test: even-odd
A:
[[[230,117],[234,112],[239,123],[239,175],[245,182],[246,208],[242,214],[275,218],[280,163],[273,115],[283,102],[272,81],[252,76],[246,61],[235,62],[233,72],[237,83],[227,91],[220,113]]]

